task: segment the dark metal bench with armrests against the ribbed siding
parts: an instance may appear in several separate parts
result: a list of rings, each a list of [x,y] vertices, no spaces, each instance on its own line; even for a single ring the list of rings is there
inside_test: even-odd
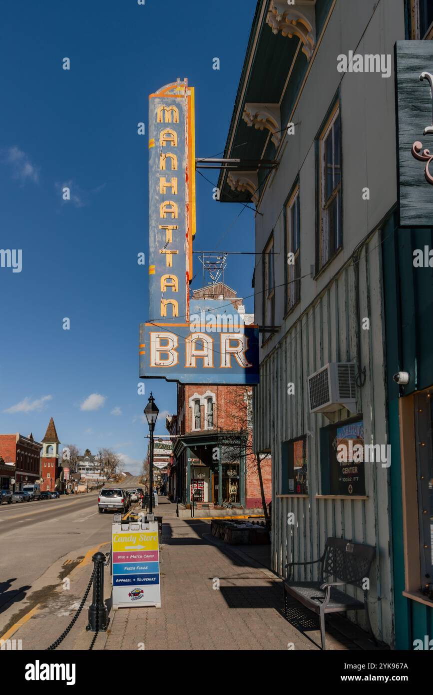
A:
[[[319,615],[322,649],[325,649],[325,614],[348,610],[366,610],[368,628],[371,635],[370,617],[368,616],[367,593],[364,580],[368,578],[371,565],[375,559],[375,548],[362,543],[351,543],[344,538],[328,538],[323,555],[312,562],[289,562],[287,579],[282,582],[285,597],[285,616],[287,619],[287,596],[293,596],[309,610]],[[292,582],[294,566],[320,563],[318,582]],[[323,581],[323,577],[334,577],[336,581]],[[346,591],[336,587],[352,584],[364,589],[364,601],[360,601]]]

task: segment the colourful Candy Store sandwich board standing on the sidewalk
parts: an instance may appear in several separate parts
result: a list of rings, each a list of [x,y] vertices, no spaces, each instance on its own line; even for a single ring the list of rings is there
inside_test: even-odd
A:
[[[112,603],[161,607],[158,521],[113,523]]]

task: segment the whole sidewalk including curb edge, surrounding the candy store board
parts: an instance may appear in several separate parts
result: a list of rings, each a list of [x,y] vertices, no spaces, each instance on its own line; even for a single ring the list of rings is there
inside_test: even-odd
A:
[[[283,616],[281,580],[269,569],[269,546],[228,546],[212,537],[210,521],[177,518],[176,505],[165,498],[160,499],[155,514],[163,518],[162,607],[110,610],[107,566],[104,598],[110,621],[108,631],[96,636],[95,651],[320,648],[314,614],[297,604],[290,609],[290,623]],[[92,555],[96,550],[110,550],[109,534],[104,536],[106,543],[87,548],[87,552],[83,549],[78,558],[70,553],[46,571],[40,578],[41,591],[23,606],[8,638],[22,639],[25,650],[46,649],[62,634],[85,593]],[[65,577],[70,580],[67,590]],[[59,651],[90,648],[94,634],[86,632],[85,626],[91,601],[92,592]],[[327,623],[328,649],[375,648],[357,626],[343,618],[337,618],[337,629],[335,624]]]

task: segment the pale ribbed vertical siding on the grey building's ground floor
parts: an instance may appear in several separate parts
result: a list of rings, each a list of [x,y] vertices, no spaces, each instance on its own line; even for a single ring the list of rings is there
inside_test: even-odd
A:
[[[352,263],[303,313],[261,364],[260,384],[254,398],[254,445],[257,451],[272,452],[273,569],[285,575],[287,562],[318,558],[328,536],[375,546],[377,562],[371,575],[369,613],[376,637],[391,644],[389,469],[380,464],[365,465],[368,500],[315,499],[321,494],[320,428],[330,423],[323,415],[309,413],[307,394],[307,377],[325,363],[357,361],[359,333],[366,382],[362,389],[357,389],[357,411],[364,418],[364,441],[387,443],[380,254],[380,234],[376,233],[359,256],[359,319],[362,324],[362,318],[370,318],[370,330],[362,330],[360,326],[359,332],[357,330],[356,279]],[[294,382],[295,395],[287,395],[288,382]],[[339,416],[339,419],[346,418],[348,411],[341,411]],[[283,489],[281,443],[307,433],[309,498],[277,498]],[[287,525],[289,512],[295,514],[295,525]],[[307,567],[305,575],[300,570],[298,578],[316,579],[316,572],[316,566]],[[350,617],[366,626],[362,613]]]

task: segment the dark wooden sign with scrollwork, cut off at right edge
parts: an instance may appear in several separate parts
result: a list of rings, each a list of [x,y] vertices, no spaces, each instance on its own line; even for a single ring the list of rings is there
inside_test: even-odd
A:
[[[433,42],[396,42],[401,227],[433,227]]]

